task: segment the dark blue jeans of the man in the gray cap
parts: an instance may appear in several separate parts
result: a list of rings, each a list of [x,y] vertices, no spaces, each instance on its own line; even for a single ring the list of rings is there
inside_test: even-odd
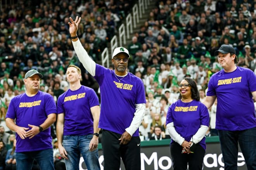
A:
[[[34,160],[36,160],[41,170],[54,170],[52,149],[16,152],[17,170],[31,170]]]

